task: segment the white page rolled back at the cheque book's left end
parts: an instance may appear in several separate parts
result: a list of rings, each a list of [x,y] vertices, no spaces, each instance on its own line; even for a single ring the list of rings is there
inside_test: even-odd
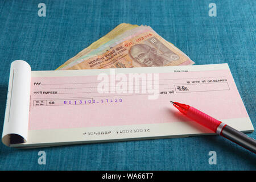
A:
[[[6,146],[25,143],[28,137],[31,67],[26,61],[11,63],[3,122],[2,142]]]

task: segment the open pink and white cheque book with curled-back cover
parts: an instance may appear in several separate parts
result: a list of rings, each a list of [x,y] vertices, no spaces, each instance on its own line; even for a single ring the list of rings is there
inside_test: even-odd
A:
[[[2,142],[30,148],[214,134],[170,100],[254,131],[228,64],[31,71],[17,60]]]

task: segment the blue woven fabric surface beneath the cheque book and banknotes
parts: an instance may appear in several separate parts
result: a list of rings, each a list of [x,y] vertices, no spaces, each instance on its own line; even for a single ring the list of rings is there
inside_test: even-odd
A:
[[[46,4],[46,17],[38,4]],[[217,17],[210,17],[209,3]],[[147,24],[196,64],[228,63],[255,121],[255,1],[0,1],[0,132],[10,63],[54,70],[119,23]],[[256,138],[256,134],[248,134]],[[46,165],[38,152],[46,152]],[[209,151],[217,164],[208,163]],[[256,155],[218,136],[19,150],[0,144],[1,170],[248,170]]]

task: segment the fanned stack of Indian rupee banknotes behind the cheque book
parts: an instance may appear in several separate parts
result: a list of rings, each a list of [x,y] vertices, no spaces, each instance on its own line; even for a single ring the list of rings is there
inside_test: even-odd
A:
[[[57,70],[163,67],[194,62],[149,26],[121,23]]]

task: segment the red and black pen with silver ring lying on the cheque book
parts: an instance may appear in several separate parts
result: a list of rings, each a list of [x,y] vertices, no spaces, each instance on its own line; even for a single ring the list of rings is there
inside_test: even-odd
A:
[[[181,113],[256,154],[256,140],[189,105],[170,101]]]

